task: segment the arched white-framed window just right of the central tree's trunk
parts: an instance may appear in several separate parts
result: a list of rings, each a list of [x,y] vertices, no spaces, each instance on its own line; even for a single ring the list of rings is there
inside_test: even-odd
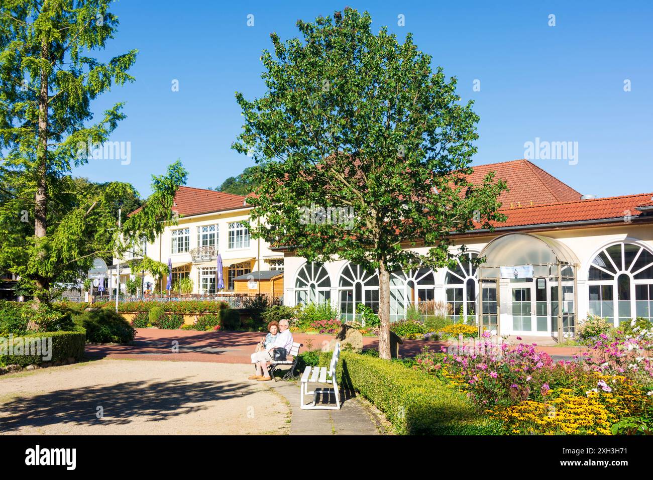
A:
[[[390,274],[390,321],[406,316],[409,305],[422,315],[428,313],[429,303],[435,298],[436,275],[428,267],[413,268]]]

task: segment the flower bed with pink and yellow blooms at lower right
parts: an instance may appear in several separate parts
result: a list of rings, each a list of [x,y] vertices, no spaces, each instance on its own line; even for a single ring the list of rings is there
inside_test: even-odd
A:
[[[653,433],[650,332],[605,335],[576,362],[558,363],[535,344],[487,337],[453,353],[426,348],[414,368],[465,392],[507,434]]]

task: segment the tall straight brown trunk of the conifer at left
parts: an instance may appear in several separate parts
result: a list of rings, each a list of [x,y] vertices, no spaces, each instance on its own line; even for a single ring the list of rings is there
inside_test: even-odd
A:
[[[41,58],[47,60],[48,42],[41,40]],[[39,144],[37,146],[37,193],[34,207],[34,236],[37,242],[39,258],[45,257],[45,251],[40,244],[45,238],[48,229],[48,197],[46,178],[48,173],[48,71],[41,67],[40,91],[39,91]],[[48,278],[37,273],[35,276],[37,291],[35,292],[35,304],[40,302],[40,296],[49,287]]]

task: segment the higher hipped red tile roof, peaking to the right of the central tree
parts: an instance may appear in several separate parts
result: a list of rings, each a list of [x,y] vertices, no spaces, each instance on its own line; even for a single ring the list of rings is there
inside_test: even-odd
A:
[[[503,192],[499,200],[504,207],[513,203],[522,206],[555,202],[573,202],[581,199],[581,194],[569,185],[537,167],[528,160],[513,160],[502,163],[488,163],[472,167],[474,172],[468,176],[473,184],[483,183],[488,172],[496,172],[496,178],[505,180],[509,191]]]

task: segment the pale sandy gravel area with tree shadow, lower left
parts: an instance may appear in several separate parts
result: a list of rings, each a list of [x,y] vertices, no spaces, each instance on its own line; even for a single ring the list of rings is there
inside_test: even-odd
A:
[[[7,375],[0,433],[287,434],[285,398],[251,373],[243,364],[103,359]]]

